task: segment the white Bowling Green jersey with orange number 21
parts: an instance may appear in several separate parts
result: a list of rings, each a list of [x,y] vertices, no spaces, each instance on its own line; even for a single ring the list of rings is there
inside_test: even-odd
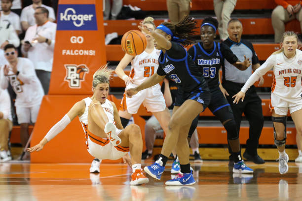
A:
[[[158,68],[158,57],[160,50],[154,50],[149,54],[144,51],[131,61],[131,72],[129,77],[136,85],[142,84],[148,77],[151,77]]]

